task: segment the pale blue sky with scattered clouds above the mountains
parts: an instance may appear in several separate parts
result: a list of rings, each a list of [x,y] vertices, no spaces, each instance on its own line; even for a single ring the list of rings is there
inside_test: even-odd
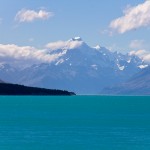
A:
[[[150,1],[0,0],[0,55],[10,46],[13,52],[20,47],[36,51],[76,36],[90,46],[145,56],[150,53]]]

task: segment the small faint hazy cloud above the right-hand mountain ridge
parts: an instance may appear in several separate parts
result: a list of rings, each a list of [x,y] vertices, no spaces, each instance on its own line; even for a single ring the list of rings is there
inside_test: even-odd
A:
[[[133,40],[129,45],[129,47],[132,49],[142,49],[144,46],[144,40]]]

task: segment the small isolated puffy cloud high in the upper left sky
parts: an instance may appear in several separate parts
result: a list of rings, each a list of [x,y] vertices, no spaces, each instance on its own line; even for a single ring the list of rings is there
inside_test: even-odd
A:
[[[46,20],[53,16],[54,16],[53,12],[48,12],[45,10],[35,11],[22,9],[16,14],[15,20],[19,22],[32,22],[37,19]]]

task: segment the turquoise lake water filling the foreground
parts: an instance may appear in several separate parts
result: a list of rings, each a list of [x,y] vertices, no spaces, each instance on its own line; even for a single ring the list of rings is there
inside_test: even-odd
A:
[[[0,97],[0,150],[150,150],[150,97]]]

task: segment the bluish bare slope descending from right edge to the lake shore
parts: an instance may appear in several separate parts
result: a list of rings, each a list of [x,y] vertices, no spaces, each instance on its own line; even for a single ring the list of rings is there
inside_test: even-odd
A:
[[[133,75],[127,82],[104,88],[106,95],[150,95],[150,67]]]

